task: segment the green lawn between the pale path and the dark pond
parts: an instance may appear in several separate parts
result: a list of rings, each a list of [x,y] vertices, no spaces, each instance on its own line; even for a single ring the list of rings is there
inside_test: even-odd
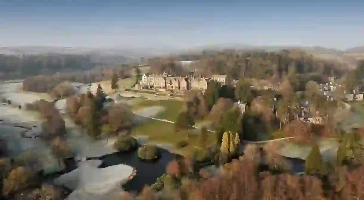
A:
[[[179,131],[175,132],[174,124],[167,123],[164,121],[151,120],[141,126],[135,127],[132,131],[132,136],[149,136],[149,141],[153,143],[160,144],[171,144],[174,147],[174,151],[176,153],[180,153],[182,155],[186,155],[191,150],[197,146],[198,141],[198,133],[199,129],[194,129],[190,131]],[[189,133],[189,137],[187,138],[187,133]],[[215,143],[215,135],[214,133],[209,132],[209,137],[207,140],[207,144],[211,145]],[[178,149],[176,144],[179,141],[187,141],[189,145]]]

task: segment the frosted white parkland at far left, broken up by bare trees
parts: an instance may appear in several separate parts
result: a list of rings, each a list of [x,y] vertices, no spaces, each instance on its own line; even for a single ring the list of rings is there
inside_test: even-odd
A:
[[[34,101],[45,99],[52,100],[47,94],[38,94],[32,92],[21,91],[22,83],[3,83],[0,84],[0,95],[12,101],[13,105],[24,105]],[[75,87],[80,87],[79,91],[86,91],[88,85],[73,83]],[[66,100],[59,100],[56,107],[64,112]],[[58,165],[58,160],[51,154],[50,149],[39,138],[23,138],[20,133],[25,129],[14,127],[13,123],[29,123],[37,127],[32,128],[32,131],[40,132],[41,120],[36,112],[25,111],[18,109],[12,105],[0,105],[0,138],[8,143],[8,149],[11,157],[16,157],[23,152],[31,152],[42,161],[43,168],[46,172],[58,171],[63,169],[64,165]],[[67,140],[74,149],[76,155],[82,157],[99,157],[116,152],[113,148],[113,140],[94,141],[86,134],[81,134],[81,129],[65,119],[67,129]],[[28,127],[28,125],[27,125]],[[30,126],[31,127],[31,126]],[[25,135],[32,136],[31,132],[26,132]],[[36,134],[35,134],[36,135]]]

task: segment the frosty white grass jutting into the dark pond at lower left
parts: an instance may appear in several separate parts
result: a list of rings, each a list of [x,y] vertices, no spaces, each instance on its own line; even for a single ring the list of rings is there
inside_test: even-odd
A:
[[[128,165],[97,168],[101,163],[99,160],[81,162],[77,169],[58,177],[54,183],[74,190],[67,197],[69,200],[100,199],[121,192],[118,185],[128,180],[133,168]]]

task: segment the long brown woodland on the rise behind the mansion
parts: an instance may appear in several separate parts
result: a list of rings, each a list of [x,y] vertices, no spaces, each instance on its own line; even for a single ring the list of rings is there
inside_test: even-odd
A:
[[[188,59],[187,59],[188,58]],[[320,60],[301,50],[282,50],[277,52],[225,50],[219,52],[198,53],[195,56],[163,57],[151,59],[148,64],[152,72],[163,71],[183,75],[196,70],[202,76],[225,74],[232,79],[281,79],[284,75],[300,75],[300,79],[317,80],[319,83],[328,76],[340,77],[346,72],[346,66],[334,61]],[[199,60],[189,69],[174,63],[176,60]]]

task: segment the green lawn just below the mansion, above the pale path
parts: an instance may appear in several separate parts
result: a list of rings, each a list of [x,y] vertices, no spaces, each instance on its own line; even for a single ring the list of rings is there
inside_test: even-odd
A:
[[[165,108],[164,111],[160,112],[156,118],[166,119],[169,121],[176,121],[179,113],[184,109],[185,102],[179,100],[142,100],[138,104],[132,105],[133,110],[151,107],[151,106],[162,106]]]

